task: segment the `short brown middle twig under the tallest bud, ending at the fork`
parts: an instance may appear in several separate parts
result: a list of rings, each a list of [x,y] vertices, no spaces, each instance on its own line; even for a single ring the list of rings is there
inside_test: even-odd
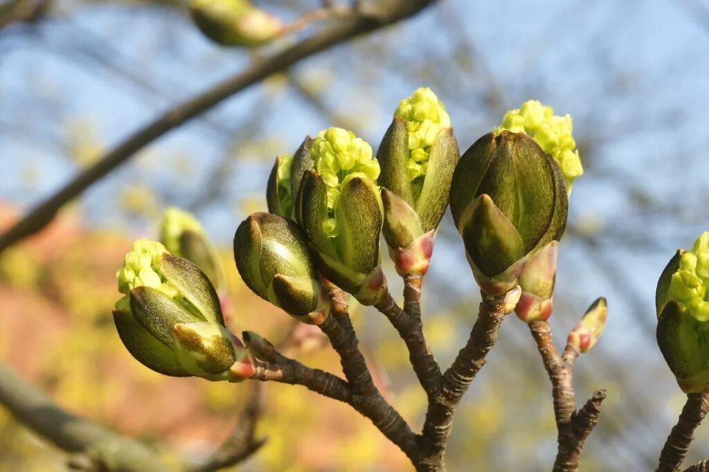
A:
[[[418,280],[420,281],[421,279]],[[408,293],[409,297],[408,300],[405,299],[404,306],[407,308],[406,310],[402,310],[396,305],[391,293],[387,293],[386,298],[375,306],[377,310],[384,313],[391,325],[398,331],[401,339],[403,339],[408,349],[408,359],[411,361],[413,371],[416,373],[423,390],[431,398],[440,388],[440,367],[428,349],[428,344],[426,344],[426,339],[423,335],[419,300],[412,295],[411,288],[405,289],[404,293]]]

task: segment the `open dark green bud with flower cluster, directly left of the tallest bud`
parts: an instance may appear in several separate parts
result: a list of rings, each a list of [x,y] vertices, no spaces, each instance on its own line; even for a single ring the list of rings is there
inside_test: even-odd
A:
[[[318,269],[360,302],[372,300],[372,281],[384,283],[378,274],[383,208],[372,147],[350,131],[330,128],[313,141],[311,156],[313,169],[303,174],[296,213]]]

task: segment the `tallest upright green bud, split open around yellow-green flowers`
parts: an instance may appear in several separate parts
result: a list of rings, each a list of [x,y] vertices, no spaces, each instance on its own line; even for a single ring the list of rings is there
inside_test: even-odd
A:
[[[381,141],[377,159],[381,164],[379,184],[418,215],[422,230],[411,240],[438,227],[448,205],[459,156],[450,118],[430,89],[418,89],[401,101]],[[387,244],[392,249],[406,249],[408,245],[401,245],[400,238],[390,237],[396,227],[406,223],[393,220],[396,214],[388,217],[384,220]]]

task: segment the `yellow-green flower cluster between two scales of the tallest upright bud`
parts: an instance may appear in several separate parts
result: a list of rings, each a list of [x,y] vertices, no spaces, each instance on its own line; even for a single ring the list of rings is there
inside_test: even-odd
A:
[[[414,181],[425,176],[431,146],[442,128],[450,128],[450,116],[443,103],[428,87],[416,89],[408,99],[403,99],[394,115],[406,120],[408,175]]]

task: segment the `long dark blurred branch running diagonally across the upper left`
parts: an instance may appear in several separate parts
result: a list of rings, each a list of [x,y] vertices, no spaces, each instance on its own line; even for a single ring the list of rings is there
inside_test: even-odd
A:
[[[296,62],[326,50],[362,33],[396,23],[413,16],[435,0],[389,0],[372,2],[366,11],[357,11],[337,24],[320,31],[311,38],[297,43],[272,57],[252,64],[244,72],[226,79],[211,89],[179,103],[163,113],[152,123],[127,137],[123,142],[104,155],[96,164],[74,177],[54,195],[39,203],[35,208],[0,235],[0,252],[25,237],[42,230],[55,217],[57,211],[79,196],[91,184],[106,176],[113,169],[126,162],[135,152],[157,140],[169,130],[187,120],[199,116],[220,101],[277,72],[289,69]]]

